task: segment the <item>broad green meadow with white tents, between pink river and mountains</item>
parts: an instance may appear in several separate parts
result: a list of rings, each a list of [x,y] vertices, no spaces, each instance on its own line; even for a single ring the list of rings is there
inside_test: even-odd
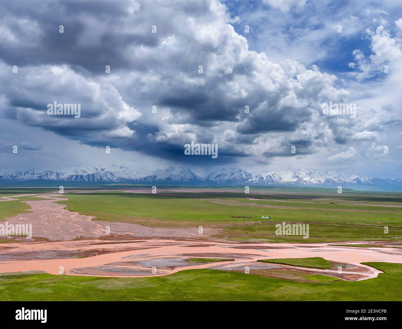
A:
[[[218,237],[232,240],[302,243],[402,240],[402,208],[370,205],[371,202],[379,202],[384,196],[369,196],[373,201],[367,201],[368,205],[364,203],[361,206],[330,204],[328,194],[248,194],[244,197],[243,194],[230,192],[139,194],[109,191],[67,193],[64,196],[70,200],[58,203],[66,204],[67,210],[96,216],[96,220],[121,221],[152,227],[225,225],[219,227]],[[295,196],[306,199],[296,199]],[[345,200],[343,195],[330,196],[335,202],[338,198]],[[288,200],[295,202],[248,200],[257,197],[278,200],[289,197]],[[313,197],[316,203],[300,202],[311,200]],[[392,200],[392,203],[402,204],[398,203],[402,201],[400,196],[393,196]],[[291,208],[275,208],[287,207],[289,204]],[[384,204],[387,205],[387,202]],[[262,216],[270,216],[271,219],[261,219]],[[301,236],[275,235],[275,225],[283,221],[308,223],[310,237],[303,239]],[[237,225],[231,225],[234,223]],[[385,226],[389,230],[387,234],[384,233]]]

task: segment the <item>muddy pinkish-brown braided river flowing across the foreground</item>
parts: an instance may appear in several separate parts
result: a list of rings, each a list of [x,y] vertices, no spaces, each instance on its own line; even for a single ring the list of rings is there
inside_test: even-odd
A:
[[[326,243],[303,244],[302,247],[296,243],[248,243],[246,244],[248,249],[244,249],[245,244],[242,244],[242,249],[239,249],[239,245],[236,243],[183,241],[183,239],[177,241],[172,239],[143,239],[119,244],[110,241],[110,244],[102,245],[99,245],[99,242],[100,240],[90,239],[0,244],[0,273],[44,271],[50,274],[84,276],[148,277],[163,276],[189,269],[230,270],[233,267],[237,270],[239,267],[264,266],[257,261],[269,258],[322,257],[332,262],[354,265],[356,270],[349,270],[347,274],[355,274],[357,280],[364,280],[376,277],[381,271],[361,264],[363,262],[402,263],[402,251],[384,247],[354,249],[353,247],[334,246]],[[107,243],[107,241],[102,242]],[[263,246],[267,249],[261,249]],[[2,247],[8,248],[2,249]],[[9,249],[9,247],[13,249]],[[93,253],[93,249],[96,249],[96,252],[100,254],[85,257]],[[381,252],[384,249],[390,249],[393,253],[384,254]],[[60,257],[57,257],[54,251],[59,252]],[[74,258],[63,256],[66,253],[74,253]],[[35,254],[48,254],[49,259],[35,259],[33,257]],[[202,254],[203,258],[208,255],[211,256],[207,258],[217,258],[216,255],[219,255],[219,258],[225,258],[224,256],[227,255],[226,258],[234,260],[212,264],[189,262],[187,266],[183,264],[175,266],[177,262],[182,262],[183,254]],[[16,255],[21,255],[18,260],[7,260],[8,257],[11,259]],[[27,257],[25,260],[23,259],[24,255]],[[40,257],[37,256],[37,258]],[[164,264],[162,267],[160,266],[161,262]],[[311,268],[287,267],[312,271]],[[359,268],[364,268],[364,270],[359,270]],[[314,269],[314,272],[336,276],[337,270]]]

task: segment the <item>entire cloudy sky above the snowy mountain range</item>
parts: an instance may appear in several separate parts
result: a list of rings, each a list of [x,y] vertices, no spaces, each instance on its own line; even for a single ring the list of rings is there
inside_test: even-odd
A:
[[[402,176],[401,2],[0,9],[0,172],[118,164]],[[48,114],[54,102],[80,104],[80,117]],[[355,115],[328,114],[329,104]],[[217,144],[218,156],[185,155],[191,142]]]

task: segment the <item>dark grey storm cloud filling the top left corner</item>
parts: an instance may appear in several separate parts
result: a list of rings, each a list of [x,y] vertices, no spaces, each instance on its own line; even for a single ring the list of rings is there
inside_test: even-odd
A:
[[[155,47],[145,31],[124,29],[130,1],[5,1],[0,19],[17,42],[0,43],[0,58],[9,65],[69,64],[92,73],[105,65],[132,65],[125,49]],[[137,6],[134,6],[137,8]],[[133,8],[133,10],[135,9]],[[138,17],[139,18],[139,17]],[[137,20],[139,26],[146,26]],[[64,33],[59,33],[59,26]]]

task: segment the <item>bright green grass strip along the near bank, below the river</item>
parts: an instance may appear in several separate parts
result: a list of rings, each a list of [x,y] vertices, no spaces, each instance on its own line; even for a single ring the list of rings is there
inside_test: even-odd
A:
[[[219,270],[150,278],[2,274],[0,300],[402,300],[402,264],[365,263],[384,273],[349,282],[297,282]]]

